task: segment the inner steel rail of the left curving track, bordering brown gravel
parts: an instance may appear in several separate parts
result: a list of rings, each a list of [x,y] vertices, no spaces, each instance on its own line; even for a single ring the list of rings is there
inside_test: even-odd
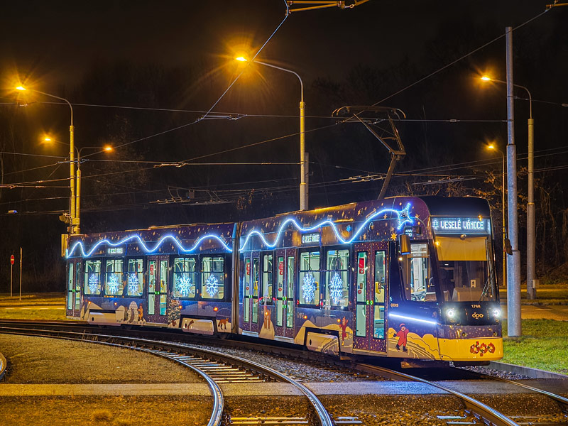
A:
[[[224,400],[223,400],[223,393],[221,391],[221,388],[219,387],[219,385],[211,378],[209,377],[209,375],[207,373],[204,373],[204,371],[201,371],[199,368],[192,366],[191,364],[188,364],[185,361],[182,361],[180,359],[175,359],[173,356],[168,356],[166,354],[157,354],[149,349],[146,348],[139,348],[136,346],[128,346],[126,344],[118,344],[118,343],[114,343],[114,342],[102,342],[100,340],[92,340],[92,339],[86,339],[85,336],[94,336],[94,337],[109,337],[111,339],[117,339],[117,340],[129,340],[129,338],[124,338],[124,337],[113,337],[113,336],[107,336],[104,334],[84,334],[84,333],[80,333],[80,332],[58,332],[55,330],[41,330],[41,329],[30,329],[30,328],[23,328],[23,329],[8,329],[5,327],[1,327],[0,326],[0,333],[5,333],[5,334],[18,334],[18,335],[25,335],[25,336],[31,336],[31,337],[50,337],[52,339],[65,339],[65,340],[73,340],[76,342],[89,342],[89,343],[94,343],[94,344],[104,344],[106,346],[115,346],[115,347],[119,347],[119,348],[124,348],[124,349],[131,349],[134,351],[143,351],[146,352],[148,354],[152,354],[155,356],[160,356],[162,358],[165,359],[170,359],[170,361],[175,361],[178,364],[182,364],[185,367],[188,367],[190,369],[192,369],[193,371],[195,371],[195,373],[199,374],[200,376],[202,376],[202,378],[204,378],[204,380],[207,382],[207,386],[209,386],[209,391],[212,394],[213,397],[213,410],[212,410],[212,414],[209,417],[209,422],[207,422],[207,426],[219,426],[221,425],[222,422],[222,416],[223,416],[223,408],[224,408]],[[55,335],[54,335],[55,334]],[[60,334],[67,334],[66,336],[60,336]],[[80,337],[70,337],[70,335],[72,334],[80,334]],[[4,358],[4,356],[2,356],[2,354],[0,354],[0,378],[4,375],[4,371],[1,371],[1,366],[2,366],[2,359]],[[4,360],[4,366],[6,365],[6,361]]]

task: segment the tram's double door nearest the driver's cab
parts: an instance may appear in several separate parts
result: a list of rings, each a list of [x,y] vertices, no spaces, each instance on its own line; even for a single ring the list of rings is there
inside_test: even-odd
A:
[[[354,244],[354,349],[386,352],[388,243]]]

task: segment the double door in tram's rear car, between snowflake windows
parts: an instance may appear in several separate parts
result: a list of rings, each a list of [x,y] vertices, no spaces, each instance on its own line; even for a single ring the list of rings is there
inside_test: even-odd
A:
[[[168,256],[148,256],[148,315],[151,322],[165,322],[168,307]]]

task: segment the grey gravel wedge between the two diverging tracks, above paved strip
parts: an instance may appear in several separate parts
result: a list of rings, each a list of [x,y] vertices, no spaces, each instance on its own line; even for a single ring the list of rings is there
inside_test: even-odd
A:
[[[188,344],[187,346],[195,346]],[[349,368],[322,364],[318,361],[295,359],[290,356],[266,354],[252,349],[237,349],[226,346],[199,345],[202,349],[223,352],[224,354],[240,356],[249,361],[273,368],[280,373],[295,378],[300,382],[348,382],[348,381],[384,381],[385,378],[373,374],[352,371]]]

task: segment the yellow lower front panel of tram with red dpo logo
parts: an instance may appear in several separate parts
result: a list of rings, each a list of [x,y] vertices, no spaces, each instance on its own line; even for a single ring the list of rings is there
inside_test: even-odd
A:
[[[438,339],[438,344],[444,361],[495,361],[503,358],[501,337]]]

